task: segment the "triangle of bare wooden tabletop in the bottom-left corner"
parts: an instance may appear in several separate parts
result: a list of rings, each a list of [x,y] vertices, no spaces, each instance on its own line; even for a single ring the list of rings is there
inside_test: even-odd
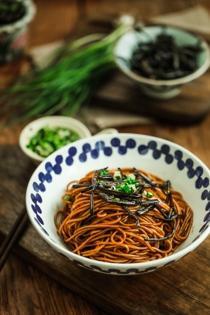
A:
[[[1,315],[107,315],[14,255],[0,273],[0,283]]]

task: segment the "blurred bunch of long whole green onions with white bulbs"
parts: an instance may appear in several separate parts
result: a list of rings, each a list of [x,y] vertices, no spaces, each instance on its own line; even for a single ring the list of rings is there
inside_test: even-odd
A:
[[[29,77],[33,79],[25,84],[5,89],[0,100],[0,113],[9,109],[4,126],[53,115],[58,111],[65,116],[74,115],[82,104],[88,102],[105,75],[115,67],[114,44],[131,29],[132,24],[132,17],[123,16],[121,24],[98,42],[84,47],[84,43],[87,43],[84,37],[66,44],[62,57],[56,63],[31,72]]]

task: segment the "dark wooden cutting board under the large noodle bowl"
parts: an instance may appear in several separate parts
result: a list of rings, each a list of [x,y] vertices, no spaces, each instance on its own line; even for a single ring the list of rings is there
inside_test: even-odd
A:
[[[1,145],[0,161],[3,239],[25,204],[34,166],[18,145]],[[71,263],[51,249],[30,222],[14,253],[109,314],[209,314],[209,241],[171,266],[135,276],[96,273]]]

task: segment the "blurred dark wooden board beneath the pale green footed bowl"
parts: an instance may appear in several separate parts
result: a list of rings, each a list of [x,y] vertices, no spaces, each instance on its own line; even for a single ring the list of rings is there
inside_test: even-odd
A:
[[[142,94],[133,81],[116,70],[96,93],[92,105],[118,108],[174,123],[194,123],[210,109],[210,70],[185,84],[181,93],[169,100],[152,99]]]

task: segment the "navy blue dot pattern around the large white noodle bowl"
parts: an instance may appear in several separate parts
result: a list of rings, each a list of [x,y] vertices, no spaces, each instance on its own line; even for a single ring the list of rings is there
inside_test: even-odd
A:
[[[203,175],[203,168],[201,166],[194,167],[193,160],[191,158],[187,158],[186,161],[183,160],[183,152],[180,150],[176,150],[174,154],[170,153],[170,146],[167,144],[163,144],[161,147],[157,147],[156,141],[152,140],[149,141],[147,145],[141,144],[137,146],[136,141],[132,138],[129,138],[126,140],[126,142],[123,144],[121,140],[117,137],[114,137],[110,141],[110,146],[105,146],[105,142],[103,140],[97,141],[95,143],[94,147],[91,147],[89,143],[85,143],[82,145],[82,152],[78,153],[78,159],[81,163],[86,162],[87,157],[91,157],[92,159],[97,159],[99,155],[102,153],[107,157],[110,157],[113,153],[113,148],[117,149],[118,154],[125,155],[128,150],[132,150],[134,148],[137,149],[140,155],[146,155],[148,152],[152,151],[152,157],[154,159],[159,159],[162,155],[164,155],[165,163],[171,164],[174,160],[176,160],[177,168],[182,171],[186,168],[187,176],[189,179],[195,178],[195,187],[196,189],[201,189],[202,187],[207,188],[209,186],[209,179],[207,177],[202,178]],[[101,153],[100,153],[101,152]],[[68,166],[71,166],[74,163],[74,158],[76,158],[77,149],[74,146],[71,146],[68,150],[68,156],[65,159],[65,163]],[[42,231],[49,236],[48,232],[43,228],[44,222],[41,218],[42,210],[40,208],[40,204],[42,203],[42,197],[40,196],[40,193],[44,193],[46,190],[46,185],[51,183],[53,180],[53,177],[51,175],[52,172],[54,172],[55,175],[60,175],[62,172],[61,164],[63,163],[63,157],[62,155],[57,155],[55,157],[55,164],[54,166],[52,163],[47,162],[45,163],[45,170],[46,173],[40,172],[38,174],[37,182],[33,183],[33,190],[34,192],[31,193],[31,209],[33,210],[36,217],[34,217],[34,220],[40,226]],[[199,235],[196,236],[196,238],[193,240],[195,242],[203,232],[206,231],[208,228],[208,223],[210,222],[210,190],[204,189],[201,192],[201,200],[207,200],[207,204],[205,207],[206,215],[204,217],[204,224],[201,226],[199,230]],[[39,203],[39,204],[38,204]],[[169,265],[173,261],[165,264],[164,266]],[[82,263],[79,263],[75,261],[75,263],[78,263],[80,265],[83,265]],[[100,268],[98,266],[84,266],[86,268],[89,268],[91,270],[99,270]],[[153,269],[156,269],[157,267],[152,267]],[[100,270],[105,273],[121,273],[120,270],[117,269],[110,269],[109,271]],[[148,272],[149,268],[145,269],[144,271],[139,271],[138,269],[128,269],[124,274],[129,273],[144,273]]]

